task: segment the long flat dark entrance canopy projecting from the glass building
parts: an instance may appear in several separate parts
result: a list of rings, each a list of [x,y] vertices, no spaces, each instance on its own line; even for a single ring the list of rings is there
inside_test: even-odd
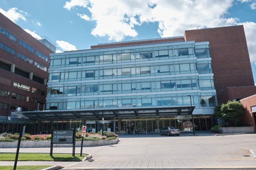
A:
[[[11,112],[15,116],[24,116],[31,120],[67,120],[75,118],[111,118],[177,116],[192,114],[195,106],[181,107],[142,107],[142,108],[93,108],[76,110]]]

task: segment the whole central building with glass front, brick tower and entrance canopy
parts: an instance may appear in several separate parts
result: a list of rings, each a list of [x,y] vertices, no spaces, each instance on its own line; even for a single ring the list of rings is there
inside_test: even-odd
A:
[[[47,86],[46,111],[19,113],[34,133],[207,131],[217,104],[256,91],[242,25],[50,54]]]

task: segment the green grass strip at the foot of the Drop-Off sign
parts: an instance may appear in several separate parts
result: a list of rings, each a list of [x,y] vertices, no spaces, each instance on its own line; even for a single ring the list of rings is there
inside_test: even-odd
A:
[[[15,161],[16,153],[1,153],[0,161]],[[86,154],[49,154],[44,153],[19,153],[18,161],[61,161],[61,162],[80,162]]]

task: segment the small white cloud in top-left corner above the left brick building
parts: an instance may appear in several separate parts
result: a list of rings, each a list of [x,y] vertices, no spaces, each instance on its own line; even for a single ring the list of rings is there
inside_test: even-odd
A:
[[[18,10],[18,8],[10,8],[8,11],[0,8],[0,12],[5,15],[7,18],[16,23],[18,20],[26,20],[27,12]]]

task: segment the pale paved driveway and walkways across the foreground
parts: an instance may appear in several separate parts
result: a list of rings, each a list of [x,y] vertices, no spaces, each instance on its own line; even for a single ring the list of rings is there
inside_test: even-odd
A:
[[[256,168],[256,134],[214,136],[210,133],[160,135],[119,135],[112,146],[84,147],[92,154],[85,162],[19,162],[19,165],[52,165],[63,169],[184,169]],[[20,148],[20,152],[47,152],[50,148]],[[251,152],[250,152],[251,151]],[[16,152],[16,148],[0,148]],[[70,153],[72,148],[53,148],[54,153]],[[80,154],[80,148],[76,148]],[[14,162],[0,162],[14,165]]]

